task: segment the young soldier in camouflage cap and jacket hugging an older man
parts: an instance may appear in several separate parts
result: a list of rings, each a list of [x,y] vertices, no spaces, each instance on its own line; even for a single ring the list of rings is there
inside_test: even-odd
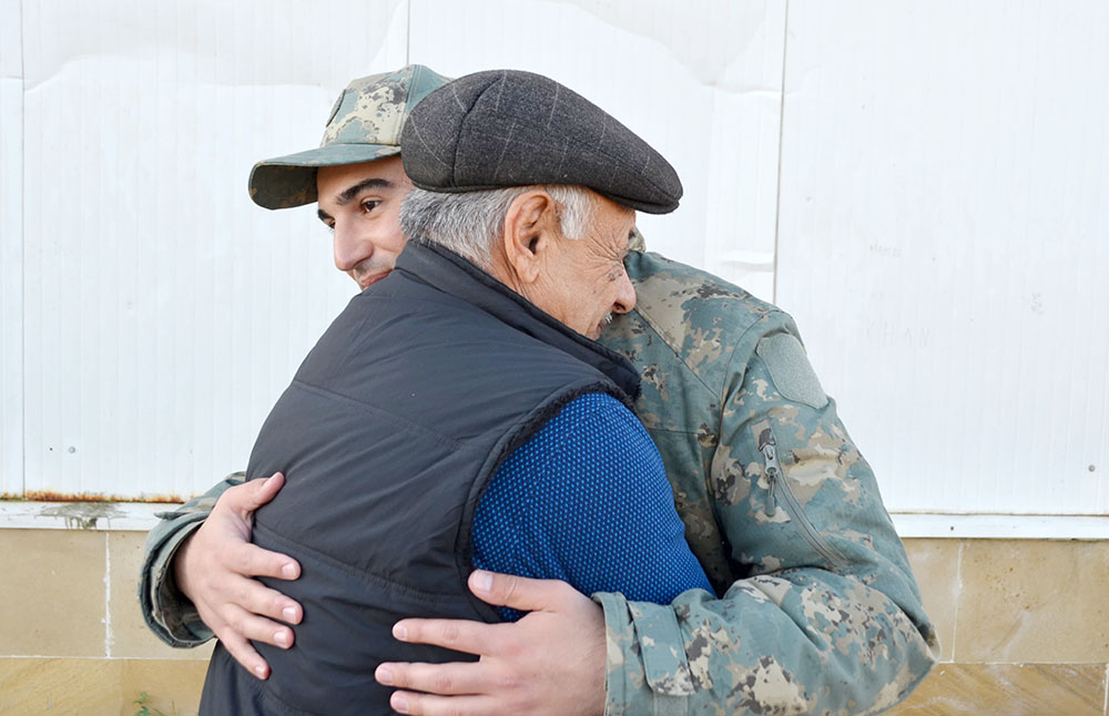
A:
[[[317,166],[395,155],[397,117],[426,94],[428,76],[406,69],[353,83],[322,147],[256,166],[252,196],[272,208],[309,203]],[[403,173],[378,185],[407,186]],[[321,218],[336,226],[337,267],[364,283],[399,253],[381,239],[396,197],[352,198],[350,222]],[[368,248],[354,252],[359,243]],[[511,625],[398,623],[401,641],[481,661],[383,664],[377,679],[399,689],[393,707],[862,714],[893,706],[934,663],[935,632],[874,475],[796,327],[735,286],[632,248],[625,266],[638,305],[600,341],[643,378],[640,419],[662,453],[686,540],[722,596],[691,591],[664,606],[615,593],[590,601],[564,583],[476,573],[477,596],[530,614]],[[237,482],[225,480],[152,531],[140,597],[163,640],[200,644],[212,635],[207,622],[240,663],[265,676],[246,640],[287,647],[292,630],[272,620],[295,624],[301,611],[248,577],[295,579],[298,565],[243,540],[251,511],[273,498],[281,478]],[[598,608],[603,633],[592,626]]]

